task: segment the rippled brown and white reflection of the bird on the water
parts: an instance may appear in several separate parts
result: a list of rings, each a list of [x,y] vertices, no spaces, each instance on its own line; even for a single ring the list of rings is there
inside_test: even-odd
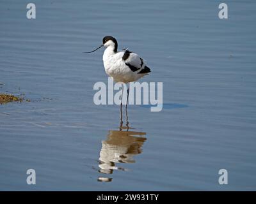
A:
[[[126,113],[127,115],[127,113]],[[122,117],[122,115],[121,115]],[[126,119],[128,119],[126,117]],[[134,156],[141,154],[142,145],[147,140],[146,133],[129,131],[128,120],[126,127],[120,121],[119,131],[110,130],[106,140],[102,140],[99,158],[99,172],[112,174],[114,170],[125,171],[125,168],[116,166],[117,163],[135,163]],[[112,178],[99,177],[100,182],[111,182]]]

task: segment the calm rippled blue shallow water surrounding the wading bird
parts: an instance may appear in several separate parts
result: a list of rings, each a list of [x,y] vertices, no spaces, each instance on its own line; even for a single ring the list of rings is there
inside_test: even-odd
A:
[[[255,190],[255,1],[225,1],[228,20],[215,1],[33,3],[0,3],[0,92],[31,99],[0,106],[0,190]],[[129,106],[122,131],[93,103],[103,49],[82,53],[105,35],[163,82],[163,110]]]

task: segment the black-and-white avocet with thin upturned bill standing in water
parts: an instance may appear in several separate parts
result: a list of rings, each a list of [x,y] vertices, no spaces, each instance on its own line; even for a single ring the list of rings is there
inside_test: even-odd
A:
[[[113,36],[104,36],[104,38],[102,39],[102,45],[100,45],[100,47],[90,52],[84,53],[88,54],[95,52],[101,47],[106,47],[102,57],[104,69],[107,75],[109,75],[109,77],[112,77],[115,82],[129,84],[129,82],[135,82],[151,72],[150,68],[148,68],[144,59],[140,57],[140,55],[129,51],[127,48],[118,52],[118,43],[116,38],[114,38]],[[128,98],[129,85],[127,85],[127,99],[125,104],[125,110],[127,110]],[[122,99],[120,107],[122,110]]]

